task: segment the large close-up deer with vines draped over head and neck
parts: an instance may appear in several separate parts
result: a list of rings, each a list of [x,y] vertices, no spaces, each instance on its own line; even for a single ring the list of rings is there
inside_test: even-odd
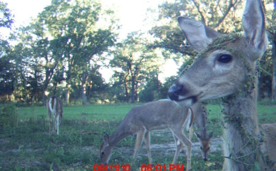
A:
[[[276,152],[271,148],[276,144],[275,134],[272,138],[266,131],[260,133],[256,112],[256,64],[267,47],[260,0],[246,1],[242,36],[219,34],[190,18],[177,20],[187,42],[199,55],[169,89],[170,99],[188,107],[223,97],[223,170],[275,170]],[[269,128],[275,131],[275,127]]]

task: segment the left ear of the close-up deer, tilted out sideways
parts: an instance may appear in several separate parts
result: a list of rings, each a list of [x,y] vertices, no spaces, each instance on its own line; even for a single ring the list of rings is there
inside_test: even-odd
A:
[[[197,52],[204,49],[214,38],[221,35],[210,27],[205,26],[202,22],[191,18],[180,16],[177,21],[188,43]]]

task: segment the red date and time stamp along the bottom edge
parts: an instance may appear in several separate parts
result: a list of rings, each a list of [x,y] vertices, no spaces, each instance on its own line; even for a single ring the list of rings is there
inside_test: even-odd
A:
[[[140,169],[141,171],[184,171],[184,165],[181,164],[169,164],[167,168],[166,164],[163,166],[157,164],[153,166],[152,164],[142,164]],[[129,164],[94,164],[93,171],[131,171]]]

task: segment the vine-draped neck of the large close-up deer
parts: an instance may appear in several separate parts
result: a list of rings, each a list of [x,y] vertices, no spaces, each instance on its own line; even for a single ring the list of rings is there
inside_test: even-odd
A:
[[[258,85],[257,80],[255,85]],[[232,158],[228,161],[233,170],[248,170],[257,159],[261,139],[256,112],[257,94],[258,89],[253,88],[250,94],[230,97],[224,104],[224,133],[227,141],[224,142],[224,155]]]

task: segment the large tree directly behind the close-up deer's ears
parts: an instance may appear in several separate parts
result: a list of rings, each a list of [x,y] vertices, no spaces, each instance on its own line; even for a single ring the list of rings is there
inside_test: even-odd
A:
[[[262,2],[263,7],[265,7],[264,1]],[[262,94],[271,94],[272,100],[276,100],[276,1],[266,1],[266,4],[271,3],[273,3],[273,9],[266,10],[266,27],[271,46],[268,47],[266,55],[261,59],[263,74],[259,78],[259,93],[260,97],[264,96]],[[242,8],[241,0],[177,0],[173,3],[164,2],[159,6],[156,26],[149,31],[156,38],[149,47],[166,50],[164,56],[174,60],[182,58],[179,55],[172,56],[171,54],[181,53],[182,56],[185,55],[187,61],[196,53],[183,41],[184,37],[177,24],[177,16],[181,15],[200,20],[220,33],[242,33],[239,20]],[[273,76],[271,77],[268,73],[272,73]]]

